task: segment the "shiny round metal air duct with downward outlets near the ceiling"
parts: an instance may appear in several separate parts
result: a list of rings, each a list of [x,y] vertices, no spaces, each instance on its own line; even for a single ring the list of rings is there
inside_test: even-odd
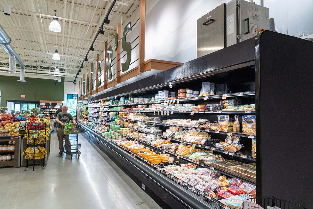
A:
[[[3,27],[0,24],[0,44],[2,45],[3,49],[10,55],[10,60],[15,59],[16,62],[18,63],[18,65],[21,67],[21,74],[22,74],[22,70],[24,71],[23,79],[20,79],[20,80],[24,80],[25,66],[24,66],[22,60],[19,58],[18,53],[16,53],[16,51],[12,48],[10,43],[11,43],[11,38],[4,31]],[[13,57],[11,58],[11,56],[13,56]],[[11,65],[13,66],[13,68],[9,67],[8,72],[11,72],[11,73],[16,72],[15,66],[14,66],[14,60],[9,61],[9,66],[11,66]],[[21,78],[22,78],[22,75],[21,75]]]

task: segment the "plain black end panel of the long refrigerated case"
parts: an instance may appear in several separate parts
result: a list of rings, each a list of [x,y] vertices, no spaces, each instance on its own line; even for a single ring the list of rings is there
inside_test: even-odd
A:
[[[257,196],[313,208],[313,42],[263,31],[255,39]]]

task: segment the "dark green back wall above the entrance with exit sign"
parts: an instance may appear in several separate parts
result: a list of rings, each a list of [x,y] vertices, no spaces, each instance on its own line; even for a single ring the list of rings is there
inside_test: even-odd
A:
[[[42,78],[25,78],[27,82],[19,82],[16,76],[0,76],[1,105],[6,106],[7,100],[53,100],[63,101],[64,83],[54,84],[55,80]],[[62,77],[62,81],[64,78]],[[25,95],[25,98],[21,98]]]

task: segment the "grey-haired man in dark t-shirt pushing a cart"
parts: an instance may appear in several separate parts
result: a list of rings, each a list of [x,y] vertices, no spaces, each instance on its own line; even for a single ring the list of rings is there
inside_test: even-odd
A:
[[[59,154],[64,151],[63,138],[65,138],[65,150],[66,150],[66,152],[71,152],[69,136],[68,135],[64,136],[64,130],[63,130],[64,125],[66,123],[69,123],[70,120],[73,121],[73,123],[75,125],[77,125],[73,116],[70,113],[67,113],[68,109],[69,109],[69,107],[63,105],[62,106],[62,112],[59,112],[57,117],[56,117],[56,121],[57,121],[57,123],[59,123],[58,124],[58,131],[57,131],[58,140],[59,140],[59,149],[60,149]]]

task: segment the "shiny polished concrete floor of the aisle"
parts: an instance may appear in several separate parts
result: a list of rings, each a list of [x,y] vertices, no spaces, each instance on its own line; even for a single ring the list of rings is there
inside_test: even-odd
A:
[[[115,163],[82,135],[80,159],[59,156],[56,133],[44,170],[0,168],[1,209],[161,209]]]

